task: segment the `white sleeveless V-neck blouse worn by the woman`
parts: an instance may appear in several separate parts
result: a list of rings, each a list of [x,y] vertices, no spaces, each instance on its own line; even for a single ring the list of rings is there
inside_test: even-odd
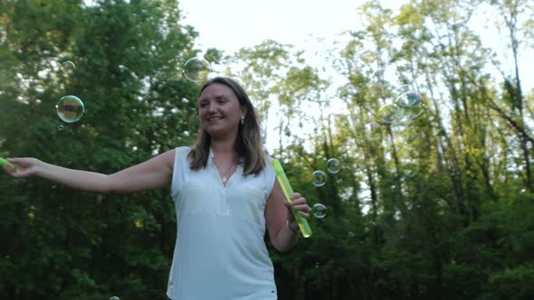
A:
[[[210,153],[204,169],[189,169],[189,147],[176,148],[171,195],[176,245],[167,286],[172,300],[277,299],[265,235],[265,204],[275,173],[239,165],[224,186]],[[269,159],[270,160],[270,159]]]

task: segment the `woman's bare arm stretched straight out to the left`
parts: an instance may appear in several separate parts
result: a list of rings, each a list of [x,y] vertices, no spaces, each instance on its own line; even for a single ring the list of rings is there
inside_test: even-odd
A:
[[[157,189],[169,184],[172,180],[175,150],[110,175],[64,168],[36,158],[9,158],[8,161],[18,164],[17,168],[10,164],[4,166],[5,172],[13,177],[42,177],[87,192],[129,193]]]

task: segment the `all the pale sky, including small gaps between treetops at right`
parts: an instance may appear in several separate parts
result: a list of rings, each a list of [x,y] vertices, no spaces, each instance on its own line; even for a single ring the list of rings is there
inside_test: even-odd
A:
[[[216,48],[231,55],[243,47],[253,47],[265,40],[274,40],[282,44],[292,44],[297,50],[313,52],[314,48],[324,51],[332,46],[333,41],[342,41],[341,34],[358,30],[361,20],[357,8],[365,1],[355,0],[178,0],[184,14],[183,24],[192,25],[199,33],[196,48],[205,50]],[[380,4],[394,11],[407,0],[382,0]],[[488,6],[489,7],[489,6]],[[492,27],[494,20],[500,18],[484,11],[479,6],[480,14],[469,23],[482,36],[484,46],[495,52],[505,53],[502,39]],[[323,42],[318,43],[318,39]],[[343,45],[343,43],[341,43]],[[510,73],[513,61],[510,55],[501,54],[501,61],[506,61]],[[316,66],[316,61],[308,61]],[[496,78],[500,75],[493,70]],[[520,77],[523,90],[534,89],[534,48],[523,52],[520,57]],[[341,104],[342,105],[342,104]],[[335,106],[335,104],[334,104]],[[274,107],[272,107],[274,108]],[[342,109],[342,108],[341,108]],[[271,118],[272,119],[272,118]],[[267,125],[273,130],[273,125]],[[269,130],[271,131],[271,130]],[[276,135],[267,136],[267,148],[277,145]]]

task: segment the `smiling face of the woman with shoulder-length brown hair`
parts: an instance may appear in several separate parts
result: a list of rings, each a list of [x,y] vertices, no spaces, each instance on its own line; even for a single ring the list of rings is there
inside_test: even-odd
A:
[[[202,91],[198,105],[202,127],[210,136],[237,133],[244,109],[234,90],[214,83]]]

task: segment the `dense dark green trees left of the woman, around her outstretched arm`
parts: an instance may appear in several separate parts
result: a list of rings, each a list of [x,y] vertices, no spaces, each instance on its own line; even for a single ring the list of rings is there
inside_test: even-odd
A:
[[[176,2],[2,8],[3,156],[114,173],[192,143],[197,87],[179,68],[195,55],[196,33],[177,23]],[[75,63],[72,74],[60,70],[62,61]],[[65,94],[80,97],[86,112],[58,130],[53,107]],[[95,195],[2,177],[2,298],[164,295],[176,239],[167,191]]]

